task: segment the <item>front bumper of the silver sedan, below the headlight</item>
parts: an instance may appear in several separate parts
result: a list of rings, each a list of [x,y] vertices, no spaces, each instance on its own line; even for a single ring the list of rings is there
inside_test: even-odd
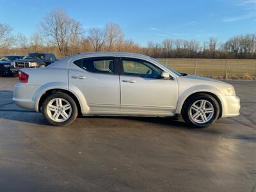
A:
[[[231,116],[238,116],[240,106],[240,99],[239,97],[235,96],[225,96],[223,98],[225,103],[223,104],[223,113],[221,117],[231,117]]]

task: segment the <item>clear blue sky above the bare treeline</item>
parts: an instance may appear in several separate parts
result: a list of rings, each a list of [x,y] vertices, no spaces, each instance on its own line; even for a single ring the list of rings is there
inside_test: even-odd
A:
[[[165,38],[225,42],[256,32],[256,0],[0,0],[0,23],[11,26],[14,35],[30,36],[56,8],[81,22],[85,35],[114,22],[125,39],[143,46]]]

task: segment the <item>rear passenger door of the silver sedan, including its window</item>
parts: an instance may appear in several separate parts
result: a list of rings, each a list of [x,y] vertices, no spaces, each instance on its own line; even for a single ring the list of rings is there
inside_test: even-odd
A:
[[[69,64],[68,80],[83,93],[90,113],[119,113],[120,81],[113,57],[83,58]]]

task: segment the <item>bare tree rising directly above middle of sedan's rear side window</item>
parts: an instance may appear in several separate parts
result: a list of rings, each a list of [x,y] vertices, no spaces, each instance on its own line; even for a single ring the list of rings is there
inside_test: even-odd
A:
[[[106,40],[106,29],[92,28],[89,30],[88,40],[93,46],[93,51],[100,51]]]

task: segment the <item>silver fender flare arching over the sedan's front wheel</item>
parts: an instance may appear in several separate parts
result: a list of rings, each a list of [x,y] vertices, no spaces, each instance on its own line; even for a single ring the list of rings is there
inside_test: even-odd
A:
[[[223,106],[223,103],[224,103],[223,93],[218,88],[210,85],[196,85],[196,86],[189,87],[185,90],[180,90],[181,94],[179,95],[176,113],[177,114],[181,113],[182,106],[185,100],[188,99],[190,95],[193,95],[194,93],[200,93],[200,92],[209,92],[216,95],[216,97],[218,97],[218,99],[220,99],[221,101],[221,106]]]

